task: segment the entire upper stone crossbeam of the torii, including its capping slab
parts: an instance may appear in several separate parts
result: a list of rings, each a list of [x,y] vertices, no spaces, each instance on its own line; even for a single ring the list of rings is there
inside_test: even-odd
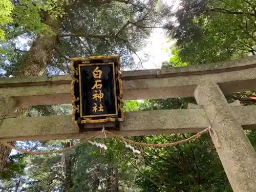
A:
[[[123,99],[193,96],[197,84],[205,79],[218,83],[224,94],[256,90],[255,58],[197,66],[197,74],[194,66],[163,69],[165,77],[161,78],[155,75],[159,70],[123,72]],[[216,73],[217,69],[222,71]],[[1,78],[0,94],[16,97],[24,105],[70,103],[70,83],[70,76]]]

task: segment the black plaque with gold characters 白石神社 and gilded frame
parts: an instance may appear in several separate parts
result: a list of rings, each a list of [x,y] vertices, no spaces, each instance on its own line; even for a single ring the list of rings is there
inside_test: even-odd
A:
[[[74,122],[83,128],[92,123],[96,129],[102,125],[117,128],[117,123],[124,120],[120,56],[73,58],[71,69]]]

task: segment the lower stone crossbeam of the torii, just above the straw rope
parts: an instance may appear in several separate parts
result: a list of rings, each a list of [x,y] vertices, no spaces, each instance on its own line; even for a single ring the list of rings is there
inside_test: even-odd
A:
[[[256,106],[236,106],[232,111],[244,129],[256,129]],[[196,133],[209,125],[204,109],[143,111],[125,114],[117,133],[123,136]],[[4,141],[84,138],[91,134],[78,134],[77,125],[66,115],[8,118],[0,125],[0,140]]]

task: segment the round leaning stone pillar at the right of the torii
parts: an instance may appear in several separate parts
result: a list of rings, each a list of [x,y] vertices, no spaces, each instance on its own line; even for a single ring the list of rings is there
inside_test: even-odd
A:
[[[218,84],[204,82],[200,84],[194,96],[199,105],[203,105],[211,126],[216,130],[212,140],[225,169],[234,192],[256,191],[256,152],[244,133],[242,126],[234,118]]]

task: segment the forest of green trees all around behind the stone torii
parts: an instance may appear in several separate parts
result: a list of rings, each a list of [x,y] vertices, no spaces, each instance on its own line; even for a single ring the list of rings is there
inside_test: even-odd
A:
[[[161,62],[161,67],[203,65],[256,54],[254,0],[180,0],[167,4],[157,0],[2,0],[0,26],[1,77],[69,74],[71,57],[90,55],[120,54],[122,70],[143,69],[143,63],[151,60],[138,52],[155,29],[162,29],[172,42],[165,50],[172,56]],[[255,92],[233,93],[227,99],[232,102],[252,95]],[[186,109],[188,102],[196,103],[194,98],[126,101],[124,111]],[[71,104],[18,109],[23,116],[70,114],[71,110]],[[256,132],[246,134],[256,147]],[[166,143],[189,136],[130,139]],[[45,151],[79,141],[10,144]],[[104,142],[108,150],[87,143],[65,154],[47,156],[11,152],[0,143],[0,190],[108,191],[114,170],[119,175],[116,190],[120,192],[232,191],[207,134],[177,146],[135,146],[141,151],[139,155],[114,138],[98,142]]]

